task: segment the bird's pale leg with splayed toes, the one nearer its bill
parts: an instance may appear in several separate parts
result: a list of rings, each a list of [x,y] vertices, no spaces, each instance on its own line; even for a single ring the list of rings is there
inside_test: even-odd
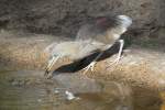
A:
[[[89,69],[91,69],[91,72],[94,72],[94,67],[97,63],[97,61],[101,57],[101,55],[103,54],[103,52],[101,52],[86,68],[84,74],[86,74]]]

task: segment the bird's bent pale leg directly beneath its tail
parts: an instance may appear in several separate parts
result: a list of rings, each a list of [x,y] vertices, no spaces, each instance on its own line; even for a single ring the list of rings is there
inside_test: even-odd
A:
[[[119,53],[118,53],[118,56],[117,56],[117,58],[113,61],[113,63],[112,64],[114,64],[114,63],[119,63],[119,61],[120,61],[120,58],[121,58],[121,54],[122,54],[122,50],[123,50],[123,45],[124,45],[124,41],[123,40],[119,40],[118,41],[119,43],[120,43],[120,48],[119,48]]]

